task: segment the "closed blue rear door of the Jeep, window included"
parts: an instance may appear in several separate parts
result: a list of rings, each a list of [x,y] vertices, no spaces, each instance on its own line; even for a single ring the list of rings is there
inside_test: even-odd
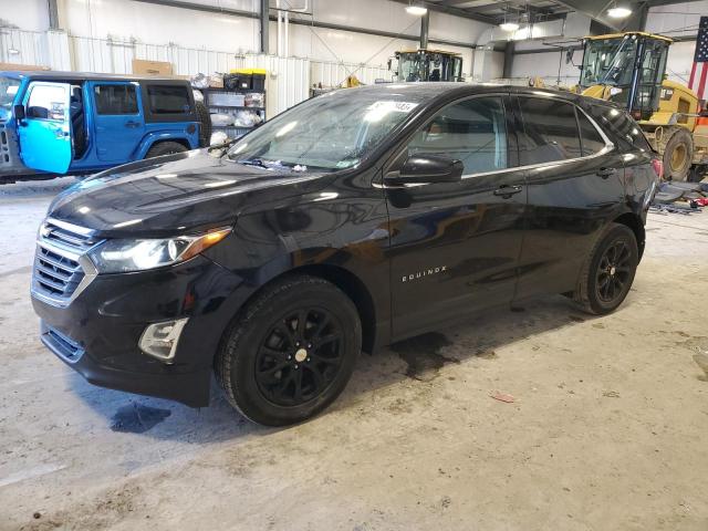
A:
[[[140,91],[136,82],[91,82],[95,145],[98,160],[122,164],[133,156],[145,135]]]

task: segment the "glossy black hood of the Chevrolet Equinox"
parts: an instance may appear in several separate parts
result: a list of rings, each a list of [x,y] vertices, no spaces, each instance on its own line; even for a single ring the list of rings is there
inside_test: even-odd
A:
[[[324,175],[244,166],[200,149],[97,174],[60,194],[48,215],[105,237],[185,233],[232,225],[246,205],[314,190]]]

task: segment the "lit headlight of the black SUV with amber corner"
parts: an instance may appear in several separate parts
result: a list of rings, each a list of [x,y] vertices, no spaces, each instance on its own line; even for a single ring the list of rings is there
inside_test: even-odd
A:
[[[88,257],[100,273],[126,273],[184,262],[218,243],[231,232],[219,229],[199,236],[154,240],[108,240]]]

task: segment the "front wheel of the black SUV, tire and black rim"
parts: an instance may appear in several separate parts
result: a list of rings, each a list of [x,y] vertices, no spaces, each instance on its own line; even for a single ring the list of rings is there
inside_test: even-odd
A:
[[[356,306],[315,277],[277,281],[235,319],[215,371],[227,399],[267,426],[305,420],[344,391],[362,347]]]

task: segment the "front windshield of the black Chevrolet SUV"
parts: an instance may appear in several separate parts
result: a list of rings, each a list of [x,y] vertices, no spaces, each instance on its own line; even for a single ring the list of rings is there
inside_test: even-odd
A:
[[[343,88],[316,96],[244,136],[229,149],[228,158],[299,171],[354,167],[420,103],[405,88]]]

